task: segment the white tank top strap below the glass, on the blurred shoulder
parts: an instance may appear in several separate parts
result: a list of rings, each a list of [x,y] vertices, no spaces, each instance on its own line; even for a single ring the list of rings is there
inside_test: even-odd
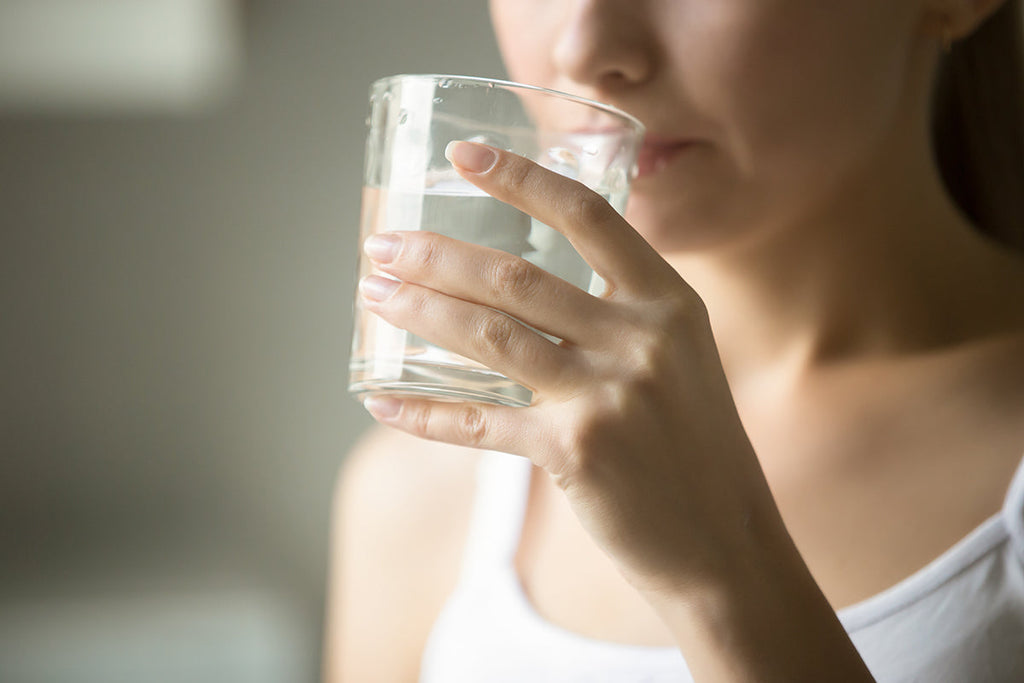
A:
[[[532,463],[519,456],[488,451],[480,458],[463,554],[463,581],[512,565],[526,513],[531,470]]]

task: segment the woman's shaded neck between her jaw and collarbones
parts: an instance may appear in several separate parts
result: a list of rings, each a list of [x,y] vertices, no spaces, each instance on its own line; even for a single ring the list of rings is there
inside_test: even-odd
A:
[[[730,379],[1024,328],[1024,259],[971,226],[927,151],[897,156],[916,161],[890,157],[757,240],[667,256],[703,298]]]

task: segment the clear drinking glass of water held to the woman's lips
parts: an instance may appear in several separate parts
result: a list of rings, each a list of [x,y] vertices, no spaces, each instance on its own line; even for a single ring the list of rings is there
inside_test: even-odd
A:
[[[367,121],[360,242],[430,230],[520,256],[592,294],[603,283],[558,231],[462,179],[452,140],[526,157],[579,180],[622,212],[643,126],[606,104],[465,76],[404,75],[373,84]],[[359,278],[381,274],[361,255]],[[549,337],[553,341],[556,339]],[[528,387],[365,310],[355,302],[349,391],[528,405]]]

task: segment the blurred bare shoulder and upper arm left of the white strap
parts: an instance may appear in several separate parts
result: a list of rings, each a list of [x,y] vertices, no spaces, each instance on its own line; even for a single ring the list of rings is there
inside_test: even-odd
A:
[[[335,489],[326,681],[408,682],[458,578],[479,452],[375,426]]]

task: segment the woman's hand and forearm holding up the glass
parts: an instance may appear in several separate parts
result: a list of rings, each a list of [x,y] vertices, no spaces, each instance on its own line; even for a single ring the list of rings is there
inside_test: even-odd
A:
[[[530,387],[535,399],[367,408],[419,436],[544,468],[701,683],[870,680],[788,539],[696,293],[582,184],[484,145],[451,153],[467,180],[565,234],[606,293],[497,250],[392,233],[391,253],[373,256],[399,284],[364,285],[367,307]]]

